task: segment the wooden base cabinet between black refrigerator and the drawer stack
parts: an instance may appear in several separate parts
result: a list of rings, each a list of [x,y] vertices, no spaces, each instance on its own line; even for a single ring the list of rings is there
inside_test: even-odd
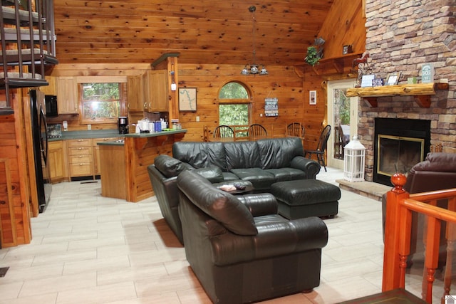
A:
[[[61,182],[68,177],[66,159],[66,141],[58,140],[48,143],[48,167],[51,173],[51,183]]]

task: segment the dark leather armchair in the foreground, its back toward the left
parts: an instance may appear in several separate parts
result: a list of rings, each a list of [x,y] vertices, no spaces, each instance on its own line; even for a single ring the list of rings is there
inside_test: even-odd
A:
[[[272,194],[234,196],[194,171],[177,177],[187,261],[213,303],[252,303],[320,284],[318,217],[289,221]]]

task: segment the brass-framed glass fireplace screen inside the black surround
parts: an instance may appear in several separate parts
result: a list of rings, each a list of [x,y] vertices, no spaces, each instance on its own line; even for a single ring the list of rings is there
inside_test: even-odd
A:
[[[413,137],[378,135],[377,172],[391,177],[408,173],[418,162],[423,161],[425,140]]]

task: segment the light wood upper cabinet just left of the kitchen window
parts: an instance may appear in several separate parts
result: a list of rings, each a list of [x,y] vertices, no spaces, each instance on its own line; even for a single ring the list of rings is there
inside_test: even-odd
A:
[[[78,83],[72,76],[56,78],[58,114],[78,114]]]

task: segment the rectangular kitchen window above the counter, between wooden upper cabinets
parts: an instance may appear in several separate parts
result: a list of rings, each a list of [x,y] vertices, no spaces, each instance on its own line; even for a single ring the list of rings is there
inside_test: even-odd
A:
[[[81,123],[117,122],[123,108],[123,83],[80,83]]]

